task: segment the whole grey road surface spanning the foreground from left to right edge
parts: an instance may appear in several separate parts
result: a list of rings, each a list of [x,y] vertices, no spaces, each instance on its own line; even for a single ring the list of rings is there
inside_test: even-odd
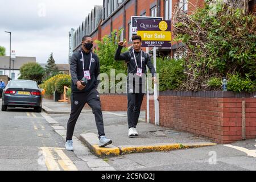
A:
[[[48,115],[59,123],[54,127],[49,125],[45,116],[45,113],[35,113],[30,109],[0,111],[0,170],[256,170],[255,139],[231,145],[100,159],[79,141],[76,141],[75,152],[65,151],[65,140],[56,131],[62,128],[65,133],[68,114]],[[104,118],[108,121],[107,131],[112,123],[122,125],[126,120],[110,113],[105,113]],[[84,131],[95,131],[93,122],[92,113],[82,113],[75,136],[79,137]]]

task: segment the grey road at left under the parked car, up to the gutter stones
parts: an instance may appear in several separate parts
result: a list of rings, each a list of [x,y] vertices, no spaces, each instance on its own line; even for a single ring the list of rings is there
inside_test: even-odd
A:
[[[0,170],[90,170],[40,113],[30,109],[0,111]]]

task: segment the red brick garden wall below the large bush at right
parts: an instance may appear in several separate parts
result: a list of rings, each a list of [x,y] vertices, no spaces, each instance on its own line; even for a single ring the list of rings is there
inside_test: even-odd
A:
[[[159,96],[160,125],[203,135],[217,143],[242,140],[243,100],[246,139],[256,138],[256,98]],[[154,120],[154,101],[150,101],[150,121]]]

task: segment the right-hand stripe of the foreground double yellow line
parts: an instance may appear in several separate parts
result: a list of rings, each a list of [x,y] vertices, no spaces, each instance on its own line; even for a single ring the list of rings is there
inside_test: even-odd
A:
[[[62,150],[56,149],[55,151],[60,156],[62,160],[58,160],[60,166],[64,169],[64,171],[78,171],[73,162],[68,158],[67,155]]]

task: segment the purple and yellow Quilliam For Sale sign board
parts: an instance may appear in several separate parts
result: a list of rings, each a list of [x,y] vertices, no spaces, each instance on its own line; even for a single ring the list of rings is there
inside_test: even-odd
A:
[[[171,20],[138,20],[142,47],[171,47]]]

